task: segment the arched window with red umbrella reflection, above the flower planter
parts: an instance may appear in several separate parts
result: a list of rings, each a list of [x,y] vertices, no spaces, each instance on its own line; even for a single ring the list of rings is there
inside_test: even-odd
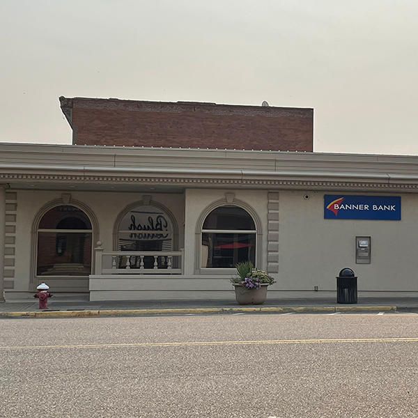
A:
[[[256,226],[247,210],[219,206],[203,222],[203,268],[235,268],[237,263],[256,263]]]

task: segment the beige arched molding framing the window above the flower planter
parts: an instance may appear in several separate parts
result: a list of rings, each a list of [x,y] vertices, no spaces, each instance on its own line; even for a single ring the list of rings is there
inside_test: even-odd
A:
[[[210,206],[201,212],[201,215],[196,222],[196,247],[194,251],[195,274],[231,274],[231,272],[235,272],[235,268],[205,268],[201,265],[203,223],[205,222],[210,212],[216,208],[219,208],[219,206],[238,206],[239,208],[246,210],[251,216],[256,226],[256,267],[262,268],[261,242],[263,231],[260,218],[258,217],[256,211],[251,208],[251,206],[249,206],[245,201],[241,201],[239,199],[233,199],[231,201],[229,197],[226,197],[226,199],[220,199],[210,204]]]

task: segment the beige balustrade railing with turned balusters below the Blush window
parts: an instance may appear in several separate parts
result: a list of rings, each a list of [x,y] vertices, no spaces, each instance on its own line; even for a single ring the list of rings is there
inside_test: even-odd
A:
[[[180,251],[103,251],[95,247],[95,274],[182,274],[184,249]]]

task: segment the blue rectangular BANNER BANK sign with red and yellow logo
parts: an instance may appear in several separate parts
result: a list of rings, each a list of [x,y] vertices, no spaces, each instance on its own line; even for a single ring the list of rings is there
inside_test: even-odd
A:
[[[324,218],[399,221],[401,197],[325,194]]]

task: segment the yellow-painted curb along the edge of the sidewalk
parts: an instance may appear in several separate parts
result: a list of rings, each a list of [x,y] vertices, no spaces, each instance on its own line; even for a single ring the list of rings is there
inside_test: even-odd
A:
[[[396,311],[396,307],[234,307],[234,308],[174,308],[174,309],[103,309],[85,311],[22,311],[0,312],[0,318],[77,318],[85,316],[156,316],[185,314],[239,314],[239,313],[277,313],[277,314],[335,314],[369,313]]]

